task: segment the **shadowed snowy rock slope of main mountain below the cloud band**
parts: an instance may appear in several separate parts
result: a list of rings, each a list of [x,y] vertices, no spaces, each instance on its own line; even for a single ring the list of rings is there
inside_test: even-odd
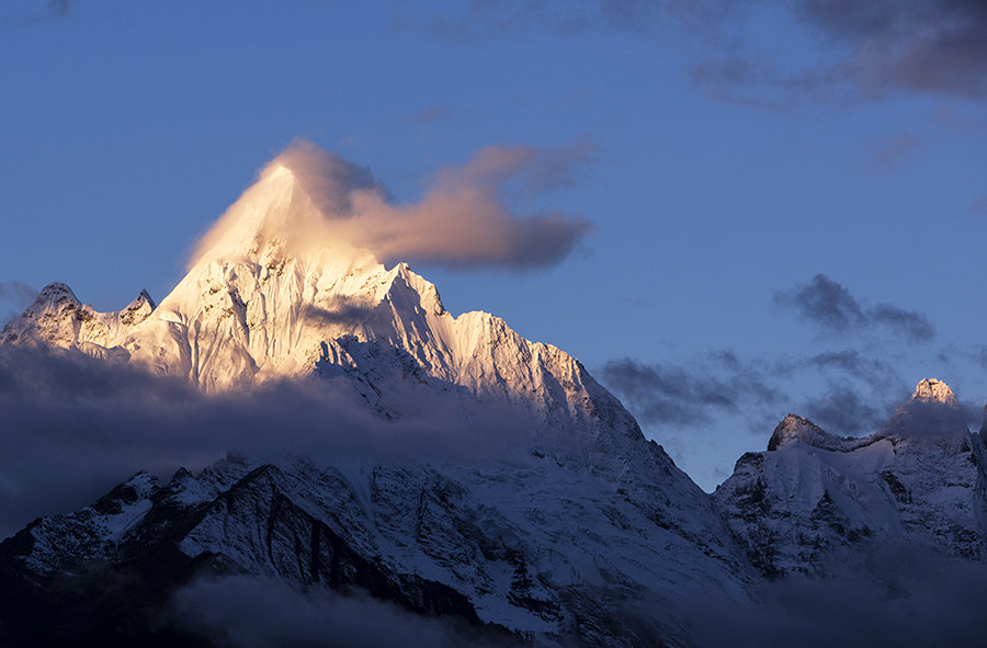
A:
[[[360,588],[538,644],[571,636],[595,646],[679,644],[674,613],[683,602],[746,598],[745,568],[730,565],[742,557],[717,558],[721,538],[702,528],[706,510],[693,512],[699,528],[676,527],[660,503],[547,457],[442,466],[224,461],[197,477],[179,471],[163,487],[139,474],[90,509],[35,522],[0,545],[0,564],[48,587],[93,565],[133,573],[163,553],[178,572],[207,560],[213,572]]]

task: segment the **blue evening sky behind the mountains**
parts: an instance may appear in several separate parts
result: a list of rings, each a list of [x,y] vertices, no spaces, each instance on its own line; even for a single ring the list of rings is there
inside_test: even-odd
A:
[[[553,266],[413,264],[572,353],[704,488],[789,411],[873,431],[922,377],[987,399],[978,0],[5,2],[0,318],[115,309],[296,137],[398,202],[489,145],[578,151],[518,213]],[[438,236],[438,234],[436,234]]]

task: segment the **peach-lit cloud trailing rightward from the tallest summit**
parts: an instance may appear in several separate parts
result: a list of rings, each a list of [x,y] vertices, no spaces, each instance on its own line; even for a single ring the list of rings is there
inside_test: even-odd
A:
[[[534,268],[565,259],[590,231],[589,221],[553,212],[519,215],[506,204],[512,187],[521,194],[570,183],[571,168],[588,160],[585,145],[559,149],[486,147],[463,167],[445,168],[421,201],[395,204],[368,169],[308,141],[296,141],[260,172],[260,181],[203,237],[191,265],[212,251],[249,246],[236,229],[257,220],[252,205],[263,202],[266,180],[294,177],[304,195],[290,197],[288,214],[275,230],[288,246],[308,249],[348,245],[368,249],[382,262],[422,261],[456,268]],[[246,217],[245,217],[246,215]],[[256,231],[256,230],[254,230]]]

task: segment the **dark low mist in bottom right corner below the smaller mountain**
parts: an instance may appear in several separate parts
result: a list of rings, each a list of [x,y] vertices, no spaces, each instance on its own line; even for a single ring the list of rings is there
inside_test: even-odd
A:
[[[862,547],[837,578],[768,583],[756,603],[690,601],[703,648],[980,646],[987,566],[915,546]]]

